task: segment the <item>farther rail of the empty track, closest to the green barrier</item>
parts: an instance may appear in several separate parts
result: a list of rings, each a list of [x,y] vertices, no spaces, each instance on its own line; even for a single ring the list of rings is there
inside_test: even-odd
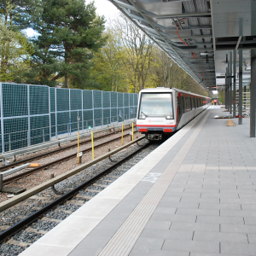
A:
[[[129,129],[131,129],[131,127],[125,128],[124,131],[125,131],[125,130],[129,130]],[[116,131],[115,131],[115,132],[116,132]],[[94,140],[98,140],[98,139],[101,139],[101,138],[103,138],[103,137],[108,137],[109,135],[111,135],[111,134],[113,134],[113,133],[114,133],[114,132],[110,132],[110,133],[105,134],[105,135],[102,135],[102,136],[100,136],[100,137],[95,137]],[[86,139],[85,141],[83,141],[83,142],[81,142],[81,143],[79,143],[79,144],[80,144],[80,145],[83,145],[83,144],[85,144],[85,143],[89,143],[90,141],[91,141],[91,139],[89,138],[89,139]],[[77,146],[77,145],[78,145],[78,143],[73,143],[72,145],[68,145],[68,146],[63,147],[63,148],[58,148],[58,149],[55,149],[55,150],[53,150],[53,151],[50,151],[50,152],[47,152],[47,153],[44,153],[44,154],[38,154],[38,155],[32,156],[32,157],[30,157],[30,158],[27,158],[27,159],[25,159],[25,160],[15,161],[15,163],[9,164],[8,166],[2,166],[2,167],[0,167],[0,172],[3,172],[3,171],[5,171],[5,170],[7,170],[7,169],[9,169],[9,168],[18,166],[18,165],[23,164],[23,163],[30,162],[30,161],[32,161],[32,160],[36,160],[36,159],[38,159],[38,158],[45,157],[45,156],[47,156],[47,155],[49,155],[49,154],[56,154],[56,153],[59,153],[59,152],[61,152],[61,151],[63,151],[63,150],[66,150],[66,149],[69,149],[69,148],[73,148],[73,147],[75,147],[75,146]]]

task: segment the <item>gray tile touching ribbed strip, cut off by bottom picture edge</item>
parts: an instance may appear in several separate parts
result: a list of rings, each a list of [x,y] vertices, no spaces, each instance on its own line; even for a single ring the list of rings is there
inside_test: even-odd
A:
[[[129,256],[189,256],[189,252],[170,252],[164,250],[152,250],[152,249],[132,249]]]

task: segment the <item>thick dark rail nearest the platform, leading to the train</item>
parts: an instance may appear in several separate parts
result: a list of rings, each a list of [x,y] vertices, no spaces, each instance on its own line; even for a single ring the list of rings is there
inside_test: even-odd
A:
[[[40,216],[42,216],[44,213],[49,212],[49,210],[51,210],[53,207],[60,205],[64,201],[67,201],[69,198],[73,197],[73,195],[76,195],[80,189],[84,189],[84,187],[88,187],[91,183],[94,183],[97,179],[101,178],[102,176],[105,176],[106,174],[108,174],[108,172],[111,172],[113,168],[115,168],[116,166],[119,166],[125,160],[130,159],[131,156],[133,156],[134,154],[137,154],[138,151],[147,147],[148,144],[149,143],[147,143],[146,145],[144,145],[141,148],[138,148],[135,152],[132,152],[127,157],[125,157],[123,160],[119,160],[118,162],[114,163],[113,166],[109,166],[107,169],[98,173],[96,176],[91,177],[89,180],[85,181],[84,183],[81,183],[78,187],[68,191],[65,195],[61,195],[61,197],[55,199],[55,201],[50,202],[48,205],[46,205],[45,207],[42,207],[37,212],[34,212],[31,215],[29,215],[28,217],[20,220],[17,224],[9,227],[9,229],[4,230],[2,233],[0,233],[0,241],[7,240],[9,238],[9,236],[15,235],[15,233],[20,231],[22,228],[24,228],[28,224],[32,224],[32,222],[34,222],[35,220],[40,218]]]

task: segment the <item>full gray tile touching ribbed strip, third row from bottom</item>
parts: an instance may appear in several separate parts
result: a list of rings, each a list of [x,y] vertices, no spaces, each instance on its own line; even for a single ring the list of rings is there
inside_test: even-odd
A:
[[[144,229],[140,237],[164,238],[175,240],[192,240],[192,230],[156,230]]]

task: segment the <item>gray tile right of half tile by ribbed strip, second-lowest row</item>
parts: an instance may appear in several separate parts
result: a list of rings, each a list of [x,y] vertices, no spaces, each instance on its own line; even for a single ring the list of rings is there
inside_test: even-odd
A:
[[[219,243],[215,241],[180,241],[166,239],[162,249],[190,253],[219,253]]]

